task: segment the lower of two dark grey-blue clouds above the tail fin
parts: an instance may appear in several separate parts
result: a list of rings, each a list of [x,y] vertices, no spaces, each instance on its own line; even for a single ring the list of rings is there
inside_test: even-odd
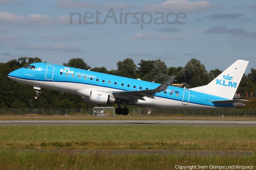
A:
[[[220,25],[218,27],[212,27],[208,29],[207,31],[204,31],[205,33],[232,33],[232,34],[242,34],[245,33],[245,31],[241,28],[227,28],[226,25]]]

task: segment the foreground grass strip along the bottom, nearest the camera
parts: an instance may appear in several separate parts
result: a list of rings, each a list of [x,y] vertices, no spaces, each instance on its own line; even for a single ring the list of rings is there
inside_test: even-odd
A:
[[[0,152],[0,169],[175,169],[176,165],[208,166],[254,166],[256,156],[195,156],[191,155],[106,155],[106,154],[68,154],[68,153],[33,153]]]

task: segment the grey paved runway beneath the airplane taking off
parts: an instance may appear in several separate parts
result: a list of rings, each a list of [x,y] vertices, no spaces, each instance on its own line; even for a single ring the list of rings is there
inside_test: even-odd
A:
[[[6,120],[0,126],[256,126],[256,121],[214,120]]]

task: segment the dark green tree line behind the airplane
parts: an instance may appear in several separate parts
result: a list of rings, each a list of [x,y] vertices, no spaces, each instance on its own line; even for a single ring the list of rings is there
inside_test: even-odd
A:
[[[7,77],[8,73],[18,68],[24,67],[30,63],[42,62],[42,59],[35,57],[21,57],[12,59],[6,63],[0,63],[0,107],[34,107],[34,108],[92,108],[96,105],[84,103],[82,97],[70,93],[42,89],[38,100],[33,100],[36,94],[32,86],[15,82]],[[128,78],[141,78],[149,82],[163,83],[171,76],[177,76],[173,83],[183,84],[183,87],[193,88],[207,85],[222,71],[214,69],[207,71],[205,66],[195,58],[187,62],[185,67],[167,67],[164,61],[141,60],[137,65],[133,59],[126,58],[117,62],[117,69],[108,71],[106,67],[91,68],[82,58],[72,58],[64,66],[75,67],[80,69],[96,71],[111,75],[123,76]],[[238,87],[237,93],[246,94],[256,90],[256,70],[251,69],[243,78]],[[248,83],[248,84],[247,84]],[[104,105],[106,106],[106,105]],[[108,105],[108,106],[111,106]]]

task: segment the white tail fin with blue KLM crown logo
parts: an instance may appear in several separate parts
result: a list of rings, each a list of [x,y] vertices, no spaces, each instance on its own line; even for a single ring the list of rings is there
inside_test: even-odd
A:
[[[197,92],[233,99],[249,61],[237,60],[206,86],[191,88]]]

